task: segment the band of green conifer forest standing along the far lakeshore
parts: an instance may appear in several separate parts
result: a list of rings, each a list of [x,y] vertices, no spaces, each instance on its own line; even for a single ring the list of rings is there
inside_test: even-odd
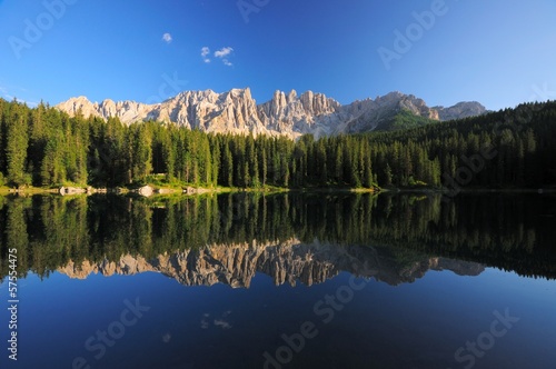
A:
[[[212,134],[0,99],[0,186],[542,187],[556,182],[556,102],[391,132]]]

